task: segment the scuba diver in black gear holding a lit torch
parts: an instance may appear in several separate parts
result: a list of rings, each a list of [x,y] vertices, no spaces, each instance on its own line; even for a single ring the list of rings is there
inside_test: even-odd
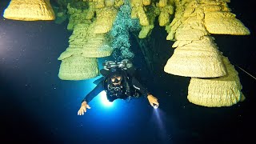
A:
[[[150,94],[145,87],[134,77],[135,69],[128,59],[121,62],[108,61],[103,63],[104,69],[100,70],[102,78],[100,82],[82,100],[78,115],[83,115],[86,109],[90,109],[88,103],[102,90],[106,91],[106,98],[113,102],[115,99],[130,99],[144,96],[154,108],[158,108],[158,98]],[[97,81],[97,80],[96,80]]]

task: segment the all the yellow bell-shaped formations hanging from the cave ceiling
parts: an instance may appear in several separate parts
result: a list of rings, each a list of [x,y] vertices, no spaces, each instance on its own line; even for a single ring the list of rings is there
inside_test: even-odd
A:
[[[63,0],[64,1],[64,0]],[[97,58],[110,56],[110,32],[120,6],[129,4],[138,18],[138,38],[146,38],[158,18],[174,54],[166,62],[168,74],[190,77],[187,98],[199,106],[233,106],[245,99],[238,72],[222,55],[211,34],[248,35],[231,13],[230,0],[80,0],[67,4],[69,47],[60,54],[58,77],[84,80],[98,76]],[[58,16],[58,14],[56,14]],[[59,14],[61,15],[61,14]],[[49,0],[11,0],[4,17],[21,21],[54,20]]]

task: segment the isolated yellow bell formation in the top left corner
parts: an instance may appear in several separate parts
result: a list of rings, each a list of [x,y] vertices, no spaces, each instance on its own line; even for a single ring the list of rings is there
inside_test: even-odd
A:
[[[11,0],[3,17],[19,21],[55,19],[50,0]]]

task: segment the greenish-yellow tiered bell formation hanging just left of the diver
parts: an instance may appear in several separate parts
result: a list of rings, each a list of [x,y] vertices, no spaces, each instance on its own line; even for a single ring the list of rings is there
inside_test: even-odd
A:
[[[94,34],[94,23],[74,26],[70,45],[58,57],[61,60],[58,77],[62,80],[84,80],[98,76],[97,58],[110,56],[106,34]]]

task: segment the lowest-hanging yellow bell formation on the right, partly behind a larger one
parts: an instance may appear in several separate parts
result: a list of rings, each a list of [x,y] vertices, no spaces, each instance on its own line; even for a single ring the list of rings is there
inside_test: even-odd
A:
[[[222,56],[227,74],[220,78],[191,78],[188,89],[188,100],[199,106],[221,107],[232,106],[242,102],[242,85],[238,72],[228,58]]]

